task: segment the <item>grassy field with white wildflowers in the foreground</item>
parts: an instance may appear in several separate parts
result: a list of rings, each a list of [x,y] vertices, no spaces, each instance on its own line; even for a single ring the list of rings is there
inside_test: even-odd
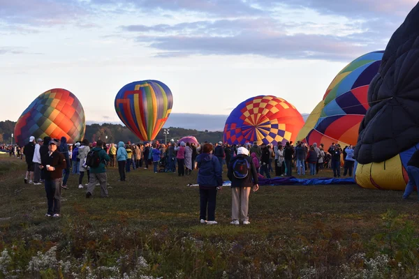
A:
[[[47,218],[45,190],[23,183],[24,168],[0,157],[0,278],[418,278],[416,193],[261,186],[251,225],[233,226],[225,187],[209,226],[186,186],[196,172],[140,169],[121,183],[108,169],[108,199],[99,188],[86,199],[71,175],[61,218]]]

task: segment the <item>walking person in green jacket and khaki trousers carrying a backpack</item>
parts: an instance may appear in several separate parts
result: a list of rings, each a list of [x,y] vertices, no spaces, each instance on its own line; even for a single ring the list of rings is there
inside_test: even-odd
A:
[[[97,167],[90,168],[90,182],[87,185],[86,197],[89,198],[93,195],[96,183],[100,183],[101,185],[101,197],[108,197],[108,177],[106,175],[105,165],[109,162],[110,158],[108,153],[103,149],[103,142],[101,140],[96,142],[93,151],[97,152],[99,164]]]

